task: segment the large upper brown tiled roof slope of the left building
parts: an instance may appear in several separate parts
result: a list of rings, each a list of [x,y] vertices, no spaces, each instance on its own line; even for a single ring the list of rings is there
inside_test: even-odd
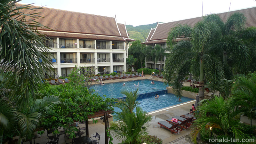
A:
[[[17,4],[20,6],[22,4]],[[38,6],[33,6],[38,7]],[[36,21],[59,32],[80,34],[96,34],[106,36],[120,36],[114,17],[106,17],[81,12],[71,12],[52,8],[37,9],[41,12]],[[23,12],[28,13],[28,10]],[[35,12],[35,11],[33,11]]]

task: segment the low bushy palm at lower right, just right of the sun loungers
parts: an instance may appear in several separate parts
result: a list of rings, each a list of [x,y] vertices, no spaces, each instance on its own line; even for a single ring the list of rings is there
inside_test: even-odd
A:
[[[227,100],[222,96],[201,101],[197,110],[199,111],[198,118],[191,126],[191,137],[194,142],[196,142],[196,136],[199,132],[206,134],[210,128],[218,129],[225,137],[244,138],[243,132],[240,130],[239,120],[234,119],[240,110],[238,108],[236,110],[230,109]],[[233,132],[232,135],[228,135],[229,131]]]

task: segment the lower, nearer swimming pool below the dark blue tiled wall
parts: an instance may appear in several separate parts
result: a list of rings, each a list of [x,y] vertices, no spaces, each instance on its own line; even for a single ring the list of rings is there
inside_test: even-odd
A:
[[[147,112],[181,104],[190,100],[194,100],[194,99],[182,97],[180,102],[178,101],[178,98],[172,93],[161,94],[159,99],[155,99],[154,96],[137,99],[137,101],[139,101],[140,103],[139,107],[141,107],[144,111],[147,111]],[[121,110],[120,108],[116,108],[116,107],[114,109],[115,109],[114,110],[115,112],[118,112]]]

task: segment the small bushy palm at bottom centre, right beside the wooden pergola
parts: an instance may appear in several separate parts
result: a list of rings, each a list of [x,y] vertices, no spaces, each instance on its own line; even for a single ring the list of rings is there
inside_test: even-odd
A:
[[[147,123],[152,120],[146,111],[138,107],[137,92],[138,89],[133,92],[121,92],[126,95],[126,99],[116,103],[116,107],[120,108],[121,111],[116,112],[116,115],[114,115],[116,121],[111,122],[110,125],[110,130],[115,137],[129,144],[137,144],[140,136],[148,134],[146,132],[148,129]]]

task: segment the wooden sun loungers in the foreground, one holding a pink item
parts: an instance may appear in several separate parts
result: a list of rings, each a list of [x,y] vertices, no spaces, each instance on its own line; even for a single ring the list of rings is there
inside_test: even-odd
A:
[[[177,123],[172,120],[172,118],[176,118]],[[183,129],[187,129],[191,126],[194,116],[190,114],[184,114],[180,116],[173,116],[172,118],[167,119],[166,121],[160,121],[157,124],[160,124],[160,128],[165,127],[170,130],[172,133],[181,132]]]

